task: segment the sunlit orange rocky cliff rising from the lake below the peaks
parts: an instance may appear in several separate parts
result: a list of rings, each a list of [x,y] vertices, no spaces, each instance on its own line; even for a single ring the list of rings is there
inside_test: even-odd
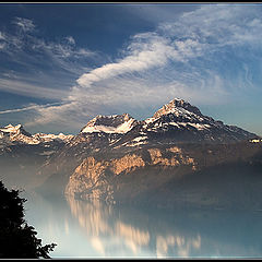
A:
[[[184,172],[196,169],[194,159],[177,146],[165,151],[148,148],[117,158],[98,158],[90,156],[82,162],[70,177],[66,194],[122,202],[166,182],[176,176],[178,167],[186,167]],[[159,169],[165,171],[160,174]],[[168,169],[172,170],[172,175]]]

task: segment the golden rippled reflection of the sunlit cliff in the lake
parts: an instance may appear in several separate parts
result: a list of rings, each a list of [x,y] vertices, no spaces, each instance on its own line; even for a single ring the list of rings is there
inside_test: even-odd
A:
[[[168,228],[165,221],[154,224],[154,218],[151,219],[138,210],[130,212],[114,209],[98,201],[83,202],[72,198],[67,200],[72,214],[92,238],[92,246],[102,255],[108,255],[106,251],[111,249],[121,248],[127,255],[132,257],[143,253],[154,257],[189,257],[201,247],[199,234],[192,237],[181,236],[176,230],[170,234],[171,228]],[[118,246],[114,247],[115,245]]]

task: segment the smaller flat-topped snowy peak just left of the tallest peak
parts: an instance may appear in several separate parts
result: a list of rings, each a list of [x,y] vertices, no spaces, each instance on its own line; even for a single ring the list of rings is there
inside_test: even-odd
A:
[[[136,120],[129,114],[112,116],[96,116],[82,130],[81,133],[105,132],[105,133],[127,133]]]

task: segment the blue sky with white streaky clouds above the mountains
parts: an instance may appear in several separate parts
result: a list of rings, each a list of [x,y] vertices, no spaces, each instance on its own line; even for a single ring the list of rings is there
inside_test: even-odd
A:
[[[175,97],[262,135],[260,3],[0,3],[0,127],[76,134]]]

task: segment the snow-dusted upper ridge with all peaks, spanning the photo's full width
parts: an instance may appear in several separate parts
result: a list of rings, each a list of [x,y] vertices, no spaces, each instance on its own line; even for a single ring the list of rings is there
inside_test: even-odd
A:
[[[136,131],[133,131],[134,129],[136,129]],[[155,111],[152,117],[144,120],[136,120],[129,114],[109,116],[97,115],[75,135],[66,135],[63,133],[56,135],[40,132],[31,134],[24,130],[22,124],[9,124],[4,128],[0,128],[0,139],[9,134],[11,141],[38,144],[45,141],[50,142],[51,140],[69,142],[78,135],[88,135],[92,133],[124,135],[132,132],[139,132],[140,134],[159,132],[163,134],[167,133],[167,131],[170,131],[169,133],[176,133],[178,136],[181,136],[181,132],[193,134],[196,131],[199,134],[201,133],[201,135],[192,135],[192,142],[194,142],[193,140],[213,142],[216,140],[215,136],[222,132],[224,132],[224,135],[222,135],[217,142],[224,142],[224,140],[225,142],[229,142],[230,140],[239,141],[259,138],[259,135],[241,128],[224,124],[221,120],[214,120],[212,117],[202,115],[198,107],[192,106],[181,98],[174,98]],[[186,136],[188,139],[188,135]],[[180,138],[180,140],[182,139]]]

